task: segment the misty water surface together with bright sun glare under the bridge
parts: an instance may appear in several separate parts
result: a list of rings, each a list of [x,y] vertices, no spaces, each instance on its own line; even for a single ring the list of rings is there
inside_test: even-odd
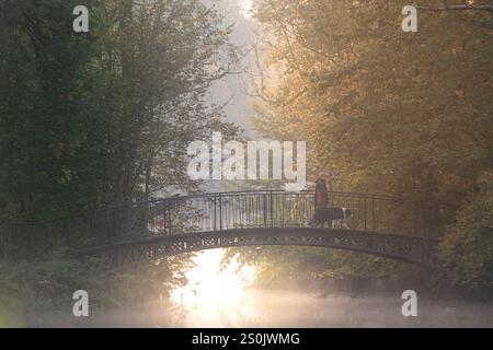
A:
[[[417,317],[401,314],[401,295],[351,298],[289,291],[253,291],[253,267],[220,269],[221,250],[195,258],[188,284],[172,305],[152,302],[89,318],[44,315],[34,327],[493,327],[493,304],[429,301],[419,296]]]

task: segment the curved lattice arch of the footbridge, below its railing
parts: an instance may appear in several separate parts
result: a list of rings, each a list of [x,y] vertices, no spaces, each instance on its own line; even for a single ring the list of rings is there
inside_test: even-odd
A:
[[[433,268],[437,241],[374,232],[332,229],[239,229],[157,236],[80,250],[79,256],[107,258],[112,265],[130,265],[165,256],[242,246],[312,246],[366,253]]]

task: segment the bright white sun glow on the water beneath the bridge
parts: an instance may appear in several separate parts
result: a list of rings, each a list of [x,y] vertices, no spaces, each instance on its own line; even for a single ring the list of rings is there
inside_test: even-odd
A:
[[[187,285],[172,292],[172,302],[186,308],[192,326],[217,326],[221,324],[221,311],[240,307],[253,282],[255,268],[239,268],[232,261],[221,270],[225,250],[214,249],[194,257],[196,267],[186,273]]]

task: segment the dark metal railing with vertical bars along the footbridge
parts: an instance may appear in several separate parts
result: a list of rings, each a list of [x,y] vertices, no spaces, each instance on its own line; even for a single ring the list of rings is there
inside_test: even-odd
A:
[[[202,194],[112,207],[44,223],[0,228],[0,257],[34,256],[56,246],[95,247],[135,238],[254,228],[303,228],[313,191]],[[444,208],[389,196],[330,192],[330,207],[347,208],[351,230],[436,238]]]

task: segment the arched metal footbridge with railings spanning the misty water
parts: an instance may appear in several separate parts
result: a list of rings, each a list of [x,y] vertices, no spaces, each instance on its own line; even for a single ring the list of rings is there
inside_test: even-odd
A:
[[[46,240],[49,248],[57,244],[48,240],[55,234],[71,254],[104,257],[116,266],[265,245],[346,249],[436,266],[443,207],[380,195],[334,191],[329,197],[331,207],[347,208],[352,215],[328,228],[309,225],[314,213],[312,191],[197,194],[9,225],[2,230],[0,248],[5,255],[21,240]]]

